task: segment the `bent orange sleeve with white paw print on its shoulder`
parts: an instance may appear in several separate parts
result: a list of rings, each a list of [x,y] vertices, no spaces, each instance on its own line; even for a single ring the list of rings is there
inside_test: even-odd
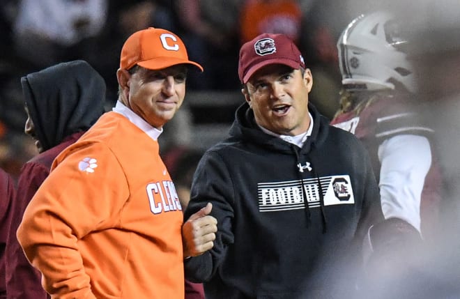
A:
[[[78,241],[91,231],[114,227],[113,215],[127,198],[123,171],[101,144],[79,148],[49,174],[17,230],[48,293],[56,298],[95,298]]]

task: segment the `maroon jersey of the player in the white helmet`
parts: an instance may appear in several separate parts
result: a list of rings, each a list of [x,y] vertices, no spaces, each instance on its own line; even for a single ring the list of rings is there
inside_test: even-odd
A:
[[[415,103],[397,96],[374,98],[360,103],[360,109],[355,108],[335,116],[330,124],[352,132],[365,144],[376,178],[380,181],[381,160],[378,158],[378,147],[383,141],[397,135],[418,135],[431,139],[434,130],[424,125],[422,114],[417,109]],[[442,183],[435,151],[436,148],[431,144],[432,162],[420,199],[420,230],[425,238],[434,236],[438,224]]]

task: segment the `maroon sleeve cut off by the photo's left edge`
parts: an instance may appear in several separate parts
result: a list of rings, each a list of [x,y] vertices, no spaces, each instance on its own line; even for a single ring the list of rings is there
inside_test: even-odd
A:
[[[0,299],[6,298],[6,240],[8,238],[8,215],[15,196],[13,178],[0,169]]]

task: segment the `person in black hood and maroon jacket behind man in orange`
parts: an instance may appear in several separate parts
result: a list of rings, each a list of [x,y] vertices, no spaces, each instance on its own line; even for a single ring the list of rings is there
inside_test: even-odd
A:
[[[24,164],[10,212],[6,250],[8,298],[47,298],[41,274],[27,261],[16,238],[26,206],[49,175],[54,158],[73,144],[104,112],[105,81],[86,61],[50,66],[21,78],[25,133],[39,155]]]

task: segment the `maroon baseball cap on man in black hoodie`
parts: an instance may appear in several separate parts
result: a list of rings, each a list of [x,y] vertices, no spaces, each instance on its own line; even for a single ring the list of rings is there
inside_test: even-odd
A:
[[[263,33],[240,49],[238,77],[243,84],[263,66],[284,64],[293,69],[305,68],[305,61],[296,44],[284,34]]]

